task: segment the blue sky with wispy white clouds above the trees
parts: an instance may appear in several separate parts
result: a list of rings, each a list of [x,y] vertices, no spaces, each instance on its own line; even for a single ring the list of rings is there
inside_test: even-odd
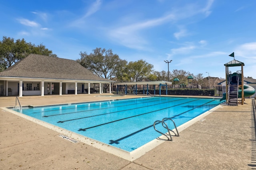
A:
[[[204,77],[224,78],[234,52],[256,78],[255,9],[255,0],[2,0],[0,35],[43,43],[60,58],[98,47]]]

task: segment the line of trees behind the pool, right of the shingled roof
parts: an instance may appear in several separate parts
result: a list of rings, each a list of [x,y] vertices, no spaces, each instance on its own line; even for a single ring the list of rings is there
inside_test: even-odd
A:
[[[94,74],[118,82],[141,82],[145,81],[161,81],[168,80],[168,72],[165,70],[154,71],[153,65],[147,63],[143,59],[138,61],[130,61],[119,58],[112,49],[96,48],[92,53],[80,52],[80,59],[76,60],[82,66],[91,70]],[[174,78],[178,78],[180,83],[187,84],[188,76],[193,76],[194,82],[202,84],[202,74],[191,74],[185,70],[172,70],[169,72],[170,82]],[[108,85],[106,85],[108,86]]]

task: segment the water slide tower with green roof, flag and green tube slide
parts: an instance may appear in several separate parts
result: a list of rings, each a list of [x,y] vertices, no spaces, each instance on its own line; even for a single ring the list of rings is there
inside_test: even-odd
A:
[[[233,54],[234,55],[234,54]],[[234,56],[232,56],[234,57]],[[226,92],[223,93],[223,98],[220,101],[226,100],[227,105],[244,104],[244,98],[252,96],[255,93],[255,89],[251,86],[248,86],[244,83],[244,72],[243,66],[244,63],[232,60],[226,64]],[[241,66],[241,70],[232,73],[228,70],[228,67],[232,66]]]

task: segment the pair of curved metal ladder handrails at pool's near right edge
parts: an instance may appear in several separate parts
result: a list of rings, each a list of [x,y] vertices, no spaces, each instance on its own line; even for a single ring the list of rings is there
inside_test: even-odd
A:
[[[166,120],[171,120],[171,121],[173,122],[177,134],[176,134],[174,131],[172,131],[171,129],[168,128],[167,124],[164,122],[164,121],[166,121]],[[158,124],[158,123],[162,123],[162,126],[163,126],[164,128],[166,128],[166,129],[168,130],[168,132],[167,132],[167,133],[162,133],[162,132],[158,131],[158,130],[156,129],[156,126],[155,126],[155,125]],[[178,133],[178,130],[177,130],[177,127],[176,127],[174,121],[173,121],[172,119],[170,119],[170,118],[164,118],[164,119],[162,119],[162,121],[160,121],[160,120],[155,121],[155,122],[154,122],[154,129],[155,129],[158,133],[161,133],[162,135],[164,135],[164,136],[167,138],[167,141],[172,141],[172,136],[180,136],[179,133]],[[171,135],[170,132],[174,133],[174,135]],[[160,138],[158,137],[158,139],[160,139]],[[165,140],[165,139],[161,139],[161,140]]]

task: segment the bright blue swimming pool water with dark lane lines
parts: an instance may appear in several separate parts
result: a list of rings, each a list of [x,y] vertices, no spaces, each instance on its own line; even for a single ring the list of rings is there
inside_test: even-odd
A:
[[[130,152],[161,136],[156,120],[171,118],[178,127],[218,104],[219,99],[149,97],[14,110]],[[156,128],[166,133],[161,126]]]

